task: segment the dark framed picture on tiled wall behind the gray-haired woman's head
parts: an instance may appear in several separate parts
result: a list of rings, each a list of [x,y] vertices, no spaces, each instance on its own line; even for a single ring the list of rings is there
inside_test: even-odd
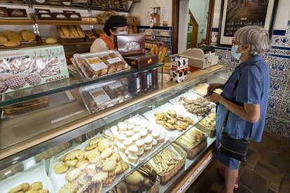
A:
[[[221,0],[219,21],[219,46],[230,47],[237,29],[258,25],[269,30],[273,24],[279,0]]]

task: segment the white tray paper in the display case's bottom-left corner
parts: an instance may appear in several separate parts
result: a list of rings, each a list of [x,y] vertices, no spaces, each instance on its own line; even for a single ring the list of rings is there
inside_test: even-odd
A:
[[[32,184],[37,181],[42,183],[43,189],[49,190],[49,192],[55,192],[55,188],[46,174],[44,160],[30,169],[16,173],[15,176],[11,176],[6,180],[1,181],[0,192],[8,192],[11,188],[22,183]]]

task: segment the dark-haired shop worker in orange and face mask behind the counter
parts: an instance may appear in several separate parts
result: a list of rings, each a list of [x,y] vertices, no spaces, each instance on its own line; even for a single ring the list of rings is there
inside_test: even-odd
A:
[[[104,52],[114,50],[113,36],[120,34],[127,34],[128,24],[125,17],[120,15],[113,15],[106,20],[104,24],[105,36],[97,38],[92,46],[90,52]]]

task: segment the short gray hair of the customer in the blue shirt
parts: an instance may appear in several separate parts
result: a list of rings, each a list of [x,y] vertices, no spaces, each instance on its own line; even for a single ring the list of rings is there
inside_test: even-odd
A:
[[[264,55],[270,49],[269,33],[256,25],[241,27],[235,32],[235,41],[240,45],[251,45],[250,54]]]

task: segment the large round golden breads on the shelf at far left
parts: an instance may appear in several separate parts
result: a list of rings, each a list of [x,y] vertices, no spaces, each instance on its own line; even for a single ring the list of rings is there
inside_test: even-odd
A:
[[[16,31],[1,31],[0,32],[0,44],[4,46],[17,46],[20,42],[24,40],[27,42],[32,42],[36,40],[36,35],[33,31],[22,30]]]

